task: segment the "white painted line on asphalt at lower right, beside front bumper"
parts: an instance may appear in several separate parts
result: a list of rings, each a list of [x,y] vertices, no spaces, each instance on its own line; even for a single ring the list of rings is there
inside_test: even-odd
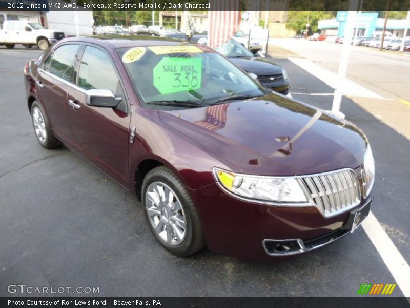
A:
[[[376,247],[393,278],[404,296],[410,297],[410,267],[388,237],[383,227],[372,212],[362,222],[364,232]]]

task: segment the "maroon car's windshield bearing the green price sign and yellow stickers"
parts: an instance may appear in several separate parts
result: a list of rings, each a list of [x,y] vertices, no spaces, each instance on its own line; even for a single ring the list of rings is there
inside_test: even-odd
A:
[[[265,94],[250,76],[205,46],[151,46],[117,51],[144,107],[167,104],[193,108]]]

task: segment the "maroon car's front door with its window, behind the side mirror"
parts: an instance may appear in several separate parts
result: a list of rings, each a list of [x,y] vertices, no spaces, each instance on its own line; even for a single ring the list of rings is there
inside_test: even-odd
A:
[[[121,97],[121,108],[86,104],[86,91],[111,90]],[[68,101],[76,148],[97,167],[103,168],[120,184],[128,187],[128,142],[131,114],[119,74],[111,55],[102,48],[86,45],[78,64],[76,86]],[[121,109],[121,110],[119,110]]]

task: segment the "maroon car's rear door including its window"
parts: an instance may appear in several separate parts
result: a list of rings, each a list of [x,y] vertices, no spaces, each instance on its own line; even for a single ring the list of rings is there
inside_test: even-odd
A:
[[[73,135],[67,112],[67,94],[74,83],[74,60],[79,44],[66,44],[56,48],[40,66],[36,80],[37,100],[42,104],[57,137],[68,145]]]

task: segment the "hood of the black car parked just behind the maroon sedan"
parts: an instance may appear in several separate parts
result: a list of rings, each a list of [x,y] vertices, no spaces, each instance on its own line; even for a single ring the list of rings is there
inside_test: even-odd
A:
[[[282,67],[259,57],[230,58],[241,69],[256,75],[281,74]]]

